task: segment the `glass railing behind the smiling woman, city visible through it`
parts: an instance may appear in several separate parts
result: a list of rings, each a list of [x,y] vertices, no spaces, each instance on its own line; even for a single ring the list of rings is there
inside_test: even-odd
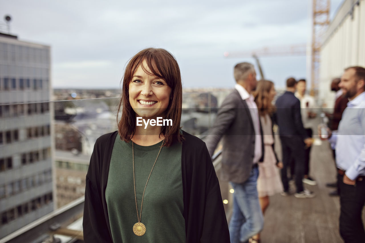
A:
[[[93,146],[99,136],[117,130],[119,101],[103,97],[0,104],[0,239],[28,235],[24,228],[29,225],[38,234],[39,225],[47,222],[40,219],[84,196]],[[204,138],[218,105],[212,93],[184,93],[182,129]],[[219,161],[214,163],[219,170]],[[222,195],[229,190],[226,185],[221,189]],[[70,219],[76,215],[82,212]]]

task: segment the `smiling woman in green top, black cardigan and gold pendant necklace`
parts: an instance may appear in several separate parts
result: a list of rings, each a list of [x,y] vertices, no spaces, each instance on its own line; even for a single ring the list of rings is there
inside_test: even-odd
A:
[[[90,159],[86,243],[229,242],[211,157],[203,141],[180,130],[181,105],[180,69],[168,51],[131,58],[118,131],[98,138]]]

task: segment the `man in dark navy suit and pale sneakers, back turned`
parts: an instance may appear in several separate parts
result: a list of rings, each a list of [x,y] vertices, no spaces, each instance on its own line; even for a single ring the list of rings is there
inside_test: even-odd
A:
[[[303,187],[304,176],[304,150],[312,145],[312,139],[308,137],[303,127],[300,113],[300,101],[295,97],[296,80],[288,78],[287,91],[276,100],[277,125],[281,147],[283,152],[283,169],[281,169],[281,181],[283,182],[284,192],[282,195],[289,194],[289,184],[287,176],[287,166],[291,157],[295,163],[295,186],[297,198],[314,197],[315,194]]]

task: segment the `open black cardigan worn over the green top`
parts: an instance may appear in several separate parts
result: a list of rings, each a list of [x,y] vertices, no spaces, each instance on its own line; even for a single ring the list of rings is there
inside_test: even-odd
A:
[[[96,140],[86,175],[84,242],[113,242],[105,189],[118,131]],[[186,242],[229,243],[219,182],[205,143],[183,131],[181,153]],[[158,223],[158,222],[156,222]]]

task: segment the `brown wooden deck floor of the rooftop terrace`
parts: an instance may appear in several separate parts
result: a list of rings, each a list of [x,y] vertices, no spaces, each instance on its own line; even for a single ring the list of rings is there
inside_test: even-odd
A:
[[[299,199],[291,196],[270,197],[265,213],[262,243],[336,243],[343,242],[339,235],[339,197],[330,197],[333,188],[326,183],[335,181],[332,151],[327,142],[313,146],[310,174],[318,185],[307,189],[316,193],[314,198]],[[365,219],[365,210],[362,212]],[[365,242],[365,239],[364,239]]]

